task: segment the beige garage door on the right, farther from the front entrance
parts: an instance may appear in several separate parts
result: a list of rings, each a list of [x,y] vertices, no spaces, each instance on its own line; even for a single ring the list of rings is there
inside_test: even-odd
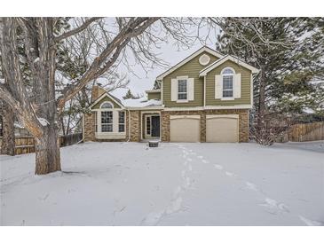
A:
[[[207,115],[206,142],[235,143],[239,141],[239,115]]]

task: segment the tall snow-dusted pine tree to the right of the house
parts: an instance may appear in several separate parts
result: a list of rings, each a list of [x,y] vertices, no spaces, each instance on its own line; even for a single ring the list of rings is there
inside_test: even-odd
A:
[[[311,81],[322,72],[324,52],[319,43],[323,39],[320,30],[310,33],[318,25],[319,19],[307,18],[225,18],[217,50],[260,69],[254,77],[253,132],[261,144],[271,145],[281,133],[268,125],[273,114],[283,112],[278,101],[287,93],[310,93]]]

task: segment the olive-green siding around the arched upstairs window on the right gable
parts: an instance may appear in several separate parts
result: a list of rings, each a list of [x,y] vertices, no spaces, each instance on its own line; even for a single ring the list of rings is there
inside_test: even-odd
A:
[[[225,67],[232,67],[236,74],[241,74],[241,98],[234,100],[221,100],[215,98],[215,75],[220,74]],[[245,67],[241,67],[231,60],[211,70],[206,75],[206,106],[233,106],[233,105],[249,105],[250,101],[250,82],[251,71]]]

